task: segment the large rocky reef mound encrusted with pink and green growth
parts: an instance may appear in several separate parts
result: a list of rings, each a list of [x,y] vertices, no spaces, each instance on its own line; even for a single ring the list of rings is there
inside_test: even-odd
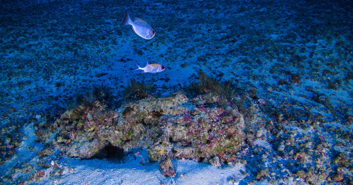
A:
[[[170,176],[175,174],[170,159],[213,163],[215,158],[227,163],[240,149],[245,138],[243,116],[230,106],[204,104],[211,97],[211,101],[217,99],[200,95],[191,103],[178,92],[173,97],[127,103],[116,112],[99,101],[83,103],[37,135],[67,156],[81,159],[100,155],[107,146],[124,151],[145,147],[150,160],[161,161],[163,174]]]

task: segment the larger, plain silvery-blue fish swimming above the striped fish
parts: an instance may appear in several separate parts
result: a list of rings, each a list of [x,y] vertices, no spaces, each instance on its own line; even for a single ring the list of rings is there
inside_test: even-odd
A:
[[[132,30],[140,37],[144,39],[151,39],[156,35],[156,31],[146,23],[144,20],[136,18],[131,20],[127,10],[125,10],[125,19],[122,21],[121,25],[131,25]]]

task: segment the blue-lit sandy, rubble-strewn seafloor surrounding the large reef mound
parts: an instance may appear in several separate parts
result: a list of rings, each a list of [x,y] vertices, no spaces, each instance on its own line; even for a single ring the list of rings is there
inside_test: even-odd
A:
[[[120,26],[125,10],[156,36]],[[0,12],[0,184],[353,183],[351,0],[2,0]],[[166,70],[133,71],[145,59]],[[164,177],[157,162],[139,164],[138,149],[122,160],[38,156],[47,146],[33,125],[54,122],[94,87],[109,87],[118,109],[132,78],[164,97],[200,69],[255,97],[254,139],[239,151],[246,162],[174,159],[176,175]],[[283,124],[277,137],[261,126],[268,120]]]

